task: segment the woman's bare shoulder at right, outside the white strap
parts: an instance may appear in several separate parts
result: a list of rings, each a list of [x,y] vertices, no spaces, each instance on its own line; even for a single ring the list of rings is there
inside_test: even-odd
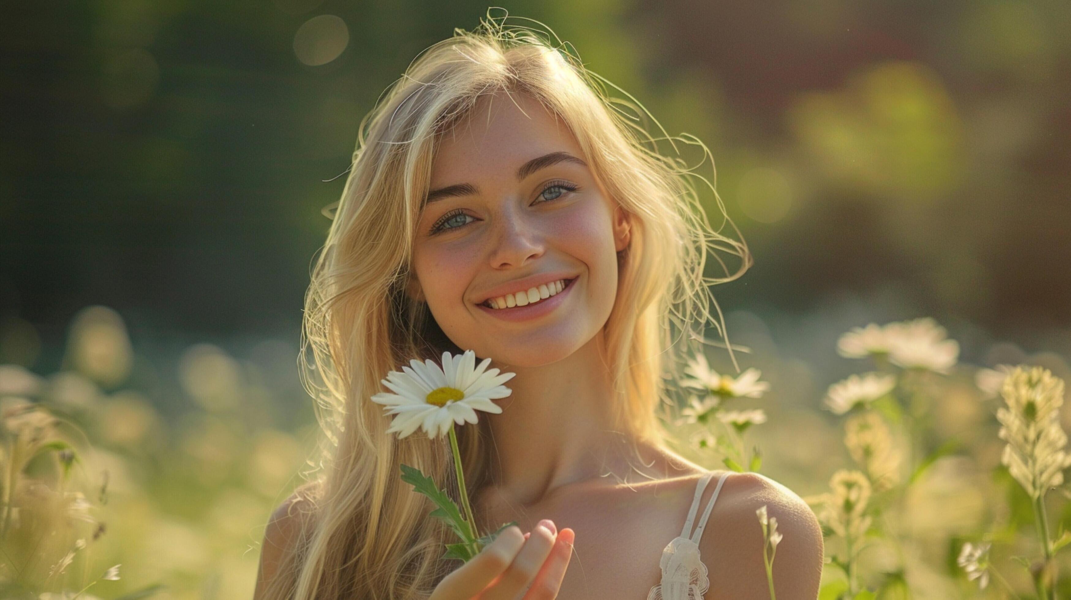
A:
[[[710,569],[711,600],[767,599],[763,528],[756,511],[778,521],[783,536],[774,553],[773,585],[780,600],[815,600],[825,552],[821,526],[802,498],[757,472],[733,472],[725,479],[710,514],[699,553]]]

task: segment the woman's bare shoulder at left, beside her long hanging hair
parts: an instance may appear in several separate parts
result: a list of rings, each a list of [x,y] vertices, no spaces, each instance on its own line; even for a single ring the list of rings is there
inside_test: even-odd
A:
[[[260,549],[260,567],[253,598],[266,598],[268,587],[288,567],[301,536],[311,527],[315,514],[315,501],[311,486],[299,488],[271,514],[265,528],[265,540]]]

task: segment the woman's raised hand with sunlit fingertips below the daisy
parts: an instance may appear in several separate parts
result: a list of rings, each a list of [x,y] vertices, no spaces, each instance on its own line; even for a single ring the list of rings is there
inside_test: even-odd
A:
[[[507,527],[435,587],[428,600],[552,600],[573,556],[573,530],[544,519],[528,534]]]

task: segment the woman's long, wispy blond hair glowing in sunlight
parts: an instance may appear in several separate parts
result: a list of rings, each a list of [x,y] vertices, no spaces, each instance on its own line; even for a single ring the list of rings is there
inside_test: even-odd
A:
[[[390,420],[369,396],[382,391],[388,371],[411,358],[461,351],[405,284],[437,142],[484,95],[528,94],[562,119],[630,219],[617,299],[602,332],[620,433],[662,445],[659,411],[672,404],[664,370],[672,374],[680,362],[670,351],[694,347],[708,324],[725,334],[720,310],[718,319],[709,311],[709,286],[743,274],[751,255],[739,231],[736,240],[710,226],[689,177],[713,185],[658,152],[658,141],[675,150],[679,141],[700,147],[706,159],[706,146],[690,136],[649,135],[644,122],[653,118],[646,109],[631,96],[610,98],[612,84],[585,69],[571,46],[553,32],[506,20],[488,10],[474,31],[455,29],[425,49],[361,122],[305,297],[300,364],[322,430],[319,460],[298,494],[310,519],[271,598],[426,598],[457,567],[440,560],[448,530],[428,516],[426,498],[399,479],[404,463],[456,494],[449,448],[441,439],[384,433]],[[722,225],[731,224],[713,196]],[[739,269],[729,273],[719,257],[725,276],[705,276],[714,251],[738,256]],[[457,431],[472,493],[488,483],[486,421]]]

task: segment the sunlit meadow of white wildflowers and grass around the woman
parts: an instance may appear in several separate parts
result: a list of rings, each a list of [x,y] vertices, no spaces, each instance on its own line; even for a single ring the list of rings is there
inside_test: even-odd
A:
[[[70,332],[59,372],[0,365],[2,596],[248,597],[267,516],[312,460],[311,424],[263,418],[277,411],[265,349],[184,349],[184,409],[165,415],[121,315],[90,306]],[[1069,597],[1067,363],[965,364],[931,318],[851,327],[828,351],[858,373],[794,410],[778,407],[778,373],[694,356],[664,415],[675,449],[812,506],[823,600]],[[755,559],[775,598],[790,540],[766,508]]]

